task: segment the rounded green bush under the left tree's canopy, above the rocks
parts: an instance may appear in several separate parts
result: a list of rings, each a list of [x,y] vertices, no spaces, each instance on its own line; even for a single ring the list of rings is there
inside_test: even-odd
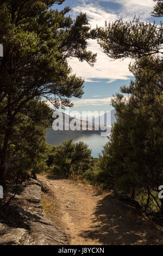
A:
[[[26,103],[22,112],[16,115],[16,124],[12,127],[12,136],[8,142],[7,168],[12,176],[28,172],[35,177],[36,173],[47,170],[46,128],[52,124],[51,119],[51,109],[38,100]],[[5,121],[8,120],[1,120],[1,127]],[[3,130],[0,136],[3,143]]]

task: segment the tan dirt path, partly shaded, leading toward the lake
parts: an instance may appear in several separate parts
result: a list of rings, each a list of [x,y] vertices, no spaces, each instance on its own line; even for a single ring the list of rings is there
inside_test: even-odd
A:
[[[163,244],[161,230],[116,196],[71,180],[38,178],[54,192],[70,245]]]

